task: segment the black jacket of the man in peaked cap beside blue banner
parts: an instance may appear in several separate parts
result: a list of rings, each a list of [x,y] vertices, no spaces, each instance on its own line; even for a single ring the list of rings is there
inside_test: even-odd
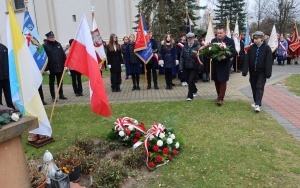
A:
[[[48,56],[48,64],[46,70],[49,70],[50,73],[58,73],[64,71],[66,54],[57,41],[48,41],[43,45]]]

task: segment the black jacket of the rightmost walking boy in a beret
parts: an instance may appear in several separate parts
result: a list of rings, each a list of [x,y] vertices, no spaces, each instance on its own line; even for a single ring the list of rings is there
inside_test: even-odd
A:
[[[246,59],[243,67],[243,76],[247,75],[247,72],[264,72],[266,78],[270,78],[272,76],[272,50],[266,42],[259,47],[259,55],[257,59],[257,63],[255,63],[256,58],[256,50],[258,46],[253,44],[250,46],[248,53],[246,55]]]

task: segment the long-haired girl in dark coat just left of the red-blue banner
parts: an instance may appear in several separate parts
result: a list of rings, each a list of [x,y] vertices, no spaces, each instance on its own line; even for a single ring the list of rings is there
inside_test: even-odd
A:
[[[129,36],[129,43],[126,47],[126,64],[129,64],[129,74],[131,75],[133,87],[132,90],[141,90],[140,88],[140,73],[141,73],[141,61],[139,57],[134,53],[135,36],[131,34]]]

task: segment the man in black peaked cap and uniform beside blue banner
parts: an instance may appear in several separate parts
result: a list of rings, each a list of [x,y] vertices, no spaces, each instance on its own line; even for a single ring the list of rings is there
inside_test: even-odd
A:
[[[47,41],[44,43],[44,49],[48,56],[48,64],[46,70],[50,71],[49,75],[49,87],[50,87],[50,94],[52,97],[52,101],[55,100],[55,92],[54,92],[54,82],[56,77],[57,86],[61,80],[65,61],[66,61],[66,54],[64,49],[62,48],[61,44],[55,40],[54,33],[50,31],[46,34]],[[59,98],[62,100],[66,100],[67,97],[63,94],[63,82],[61,83],[61,87],[59,89]]]

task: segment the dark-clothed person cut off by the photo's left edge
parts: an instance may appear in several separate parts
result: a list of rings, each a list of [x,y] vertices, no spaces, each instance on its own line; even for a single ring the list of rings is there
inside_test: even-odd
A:
[[[6,105],[15,109],[10,92],[9,68],[8,68],[8,49],[0,43],[0,105],[2,104],[2,90],[4,93]]]

